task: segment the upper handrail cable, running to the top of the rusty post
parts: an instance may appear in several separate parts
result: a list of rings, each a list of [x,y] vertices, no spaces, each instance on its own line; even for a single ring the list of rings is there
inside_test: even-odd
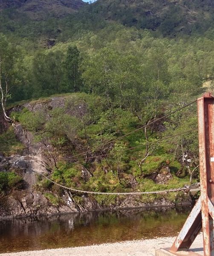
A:
[[[117,141],[117,140],[120,140],[120,139],[122,139],[122,138],[124,138],[124,137],[127,137],[128,135],[133,134],[134,132],[143,129],[143,128],[147,127],[148,125],[152,125],[153,123],[158,122],[159,120],[164,119],[164,118],[166,118],[167,116],[170,116],[170,115],[176,113],[177,111],[180,111],[180,110],[182,110],[183,108],[186,108],[186,107],[192,105],[192,104],[195,103],[195,102],[197,102],[197,99],[194,100],[193,102],[188,103],[187,105],[185,105],[185,106],[183,106],[183,107],[181,107],[181,108],[176,109],[175,111],[172,111],[171,113],[166,114],[165,116],[162,116],[162,117],[160,117],[160,118],[158,118],[158,119],[155,119],[154,121],[148,123],[147,125],[141,126],[141,127],[137,128],[137,129],[134,130],[134,131],[130,131],[129,133],[124,134],[123,136],[121,136],[121,137],[119,137],[119,138],[116,138],[116,139],[114,139],[114,140],[108,141],[107,143],[104,143],[104,144],[102,144],[102,145],[99,145],[99,146],[97,146],[97,147],[95,147],[95,148],[92,148],[92,149],[90,149],[90,150],[88,150],[88,151],[84,151],[84,152],[82,152],[82,153],[80,153],[80,154],[76,154],[76,155],[74,155],[74,156],[72,156],[72,157],[69,157],[69,159],[74,158],[74,157],[78,157],[78,156],[80,156],[80,155],[82,155],[82,154],[87,154],[87,153],[89,153],[89,152],[91,152],[91,151],[94,151],[94,150],[96,150],[96,149],[98,149],[98,148],[101,148],[101,147],[103,147],[103,146],[105,146],[105,145],[108,145],[108,144],[113,143],[113,142],[115,142],[115,141]]]

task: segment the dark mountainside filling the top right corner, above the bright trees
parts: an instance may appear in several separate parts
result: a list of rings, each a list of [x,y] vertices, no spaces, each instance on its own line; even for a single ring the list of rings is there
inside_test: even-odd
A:
[[[106,20],[163,35],[207,29],[214,20],[213,11],[211,0],[98,0],[85,9]]]

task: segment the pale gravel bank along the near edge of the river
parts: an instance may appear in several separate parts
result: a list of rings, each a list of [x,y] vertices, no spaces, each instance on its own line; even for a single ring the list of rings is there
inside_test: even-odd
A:
[[[154,256],[155,249],[170,247],[173,241],[173,237],[165,237],[74,248],[1,253],[0,256]],[[202,234],[197,237],[192,247],[197,253],[202,250]]]

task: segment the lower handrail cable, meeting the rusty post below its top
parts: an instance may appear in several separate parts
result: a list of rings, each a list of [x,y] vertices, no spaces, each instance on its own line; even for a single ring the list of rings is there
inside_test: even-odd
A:
[[[132,147],[132,148],[125,148],[125,149],[117,150],[115,152],[123,152],[123,151],[127,151],[127,150],[132,150],[132,149],[135,149],[135,148],[140,148],[140,147],[143,147],[143,146],[146,146],[146,145],[151,145],[151,144],[154,144],[154,143],[159,143],[160,141],[168,140],[168,139],[177,137],[179,135],[186,134],[186,133],[191,132],[191,131],[195,131],[197,129],[198,128],[194,128],[194,129],[191,129],[189,131],[184,131],[184,132],[181,132],[179,134],[175,134],[175,135],[172,135],[172,136],[169,136],[169,137],[165,137],[165,138],[162,138],[162,139],[159,139],[159,140],[156,140],[156,141],[152,141],[152,142],[147,143],[147,144],[138,145],[138,146],[135,146],[135,147]],[[114,153],[114,152],[112,152],[112,153]],[[110,155],[112,153],[101,154],[101,155],[97,155],[97,156],[93,156],[93,157],[73,158],[72,160],[86,160],[86,159],[92,159],[92,158],[95,158],[95,157],[104,157],[104,156]],[[67,159],[70,159],[70,158],[67,158]]]

